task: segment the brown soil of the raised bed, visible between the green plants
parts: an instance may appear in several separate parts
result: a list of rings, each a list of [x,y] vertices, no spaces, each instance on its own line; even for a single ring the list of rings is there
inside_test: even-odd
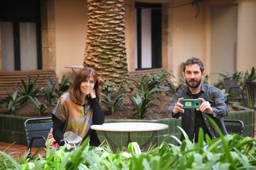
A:
[[[166,113],[166,110],[171,103],[171,97],[165,94],[159,94],[158,95],[159,100],[153,100],[155,104],[154,108],[148,109],[147,114],[145,115],[144,119],[163,119],[163,118],[169,118],[169,116]],[[44,97],[38,97],[40,102],[45,102]],[[117,108],[115,113],[113,115],[109,115],[108,109],[101,103],[101,107],[105,113],[106,119],[139,119],[139,116],[134,114],[134,106],[130,102],[129,99],[124,99],[122,102],[122,105]],[[16,116],[27,116],[27,117],[48,117],[51,116],[51,112],[53,111],[54,107],[50,106],[46,109],[46,111],[43,113],[43,115],[36,115],[35,107],[32,104],[27,105],[20,105],[16,107],[16,110],[14,114]],[[236,110],[235,108],[229,106],[230,110]],[[0,113],[7,114],[6,109],[0,108]]]

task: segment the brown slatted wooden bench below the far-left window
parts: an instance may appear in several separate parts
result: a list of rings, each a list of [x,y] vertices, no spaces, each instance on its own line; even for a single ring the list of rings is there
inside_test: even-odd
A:
[[[0,98],[6,97],[7,94],[4,89],[12,92],[19,89],[22,85],[22,79],[25,81],[27,75],[30,76],[30,83],[38,76],[36,87],[47,86],[47,79],[55,81],[56,73],[54,70],[28,70],[28,71],[0,71]]]

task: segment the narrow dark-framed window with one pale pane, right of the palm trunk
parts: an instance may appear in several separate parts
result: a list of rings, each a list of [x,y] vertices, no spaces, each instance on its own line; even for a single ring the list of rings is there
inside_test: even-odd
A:
[[[135,68],[161,68],[162,5],[135,3],[136,39]],[[137,48],[137,49],[136,49]]]

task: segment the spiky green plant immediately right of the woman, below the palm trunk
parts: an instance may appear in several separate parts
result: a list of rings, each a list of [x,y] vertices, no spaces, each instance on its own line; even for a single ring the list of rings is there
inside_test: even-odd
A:
[[[106,94],[103,91],[105,91]],[[126,90],[123,83],[109,86],[109,81],[107,80],[106,86],[101,87],[101,102],[108,108],[111,115],[113,115],[114,111],[122,104],[125,93]]]

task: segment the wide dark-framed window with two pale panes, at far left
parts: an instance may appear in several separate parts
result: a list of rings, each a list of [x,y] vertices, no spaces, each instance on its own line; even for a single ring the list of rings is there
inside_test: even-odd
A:
[[[42,68],[40,18],[40,1],[0,1],[3,71]]]

